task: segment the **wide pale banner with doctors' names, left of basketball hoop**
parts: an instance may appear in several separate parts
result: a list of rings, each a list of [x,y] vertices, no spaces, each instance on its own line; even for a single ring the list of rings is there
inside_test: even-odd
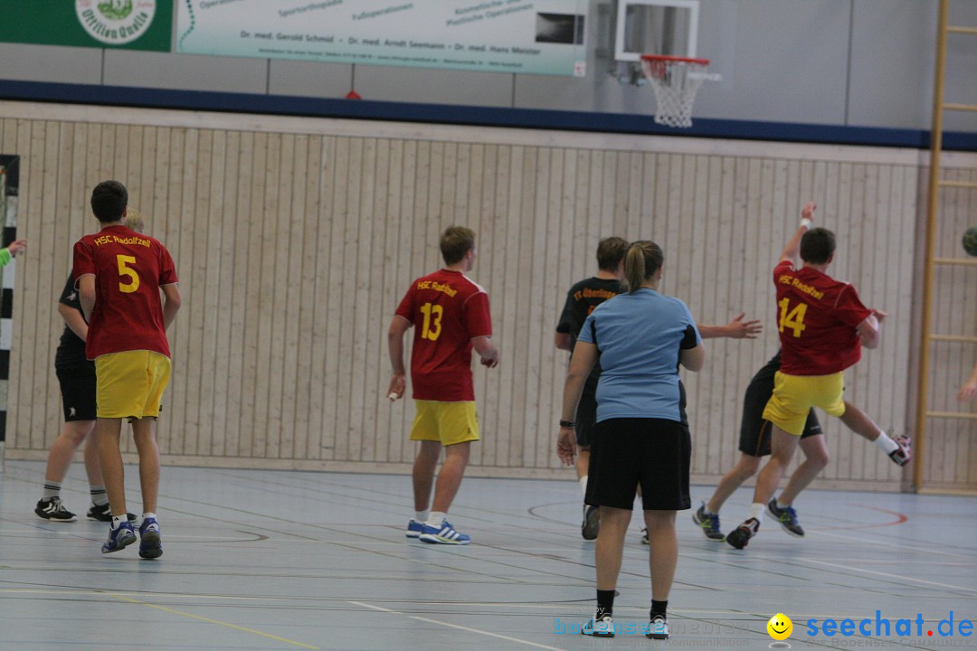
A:
[[[587,0],[179,0],[176,52],[583,76]]]

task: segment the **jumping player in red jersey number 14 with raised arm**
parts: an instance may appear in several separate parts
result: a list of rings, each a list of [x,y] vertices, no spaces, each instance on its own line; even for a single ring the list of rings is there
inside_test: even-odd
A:
[[[789,505],[772,498],[797,449],[808,413],[811,407],[821,407],[831,416],[845,413],[844,370],[861,359],[862,346],[878,346],[878,326],[885,317],[884,312],[862,305],[851,284],[828,276],[834,233],[811,228],[815,208],[813,203],[804,206],[800,227],[774,267],[782,358],[773,396],[763,410],[763,419],[773,424],[771,454],[756,479],[749,517],[726,537],[737,549],[756,535],[765,509],[782,523],[795,519]],[[798,253],[803,264],[795,268]],[[875,443],[890,456],[901,449],[884,432]],[[905,454],[908,462],[908,449]]]

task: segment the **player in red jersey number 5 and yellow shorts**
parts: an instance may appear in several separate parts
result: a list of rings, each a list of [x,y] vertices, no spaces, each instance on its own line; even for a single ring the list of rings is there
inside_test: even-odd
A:
[[[99,462],[112,513],[102,551],[117,551],[136,542],[126,516],[119,452],[122,419],[128,419],[139,452],[143,489],[139,555],[156,558],[163,553],[156,520],[156,418],[170,379],[166,328],[180,308],[180,290],[166,248],[123,224],[128,202],[125,185],[117,181],[99,183],[92,190],[92,212],[102,229],[74,245],[74,277],[89,324],[85,356],[95,360]]]

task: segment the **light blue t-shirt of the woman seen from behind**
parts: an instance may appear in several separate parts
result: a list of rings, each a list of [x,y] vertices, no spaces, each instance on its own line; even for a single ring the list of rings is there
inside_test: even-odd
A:
[[[653,289],[598,305],[577,338],[600,350],[597,422],[612,418],[680,421],[678,356],[702,338],[689,308]]]

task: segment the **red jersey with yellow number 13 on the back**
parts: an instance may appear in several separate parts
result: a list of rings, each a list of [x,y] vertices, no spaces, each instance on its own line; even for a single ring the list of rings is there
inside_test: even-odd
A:
[[[460,271],[441,269],[410,285],[397,315],[414,326],[414,399],[474,400],[472,340],[491,336],[486,291]]]

